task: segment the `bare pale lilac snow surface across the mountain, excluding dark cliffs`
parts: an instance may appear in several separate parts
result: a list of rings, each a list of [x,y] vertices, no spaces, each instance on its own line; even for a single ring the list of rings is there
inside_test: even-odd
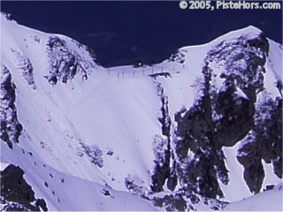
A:
[[[252,36],[258,32],[248,27],[206,45],[182,48],[182,64],[166,60],[152,67],[120,66],[107,70],[72,39],[22,27],[1,17],[1,64],[11,72],[16,86],[15,106],[23,125],[19,143],[13,143],[12,149],[1,142],[1,163],[19,165],[36,198],[43,198],[50,210],[160,209],[130,193],[125,183],[131,181],[150,193],[156,159],[153,140],[164,138],[158,120],[163,105],[157,85],[164,87],[173,120],[177,111],[188,109],[195,102],[195,83],[202,78],[203,60],[211,47],[241,34]],[[48,75],[54,61],[51,58],[50,62],[46,46],[55,36],[65,42],[59,48],[73,55],[73,66],[80,69],[67,76],[67,83],[58,80],[52,85],[54,78]],[[275,97],[279,95],[274,83],[281,79],[282,49],[279,44],[270,43],[265,80]],[[50,54],[57,59],[60,52],[54,50]],[[60,63],[64,66],[65,62]],[[27,64],[32,64],[30,72],[26,72]],[[171,77],[149,77],[157,72],[168,72]],[[217,83],[221,84],[221,79]],[[238,93],[245,96],[240,88]],[[225,149],[230,182],[220,183],[224,201],[240,201],[252,195],[236,159],[237,149],[237,145]],[[280,182],[268,165],[264,169],[268,174],[263,187]]]

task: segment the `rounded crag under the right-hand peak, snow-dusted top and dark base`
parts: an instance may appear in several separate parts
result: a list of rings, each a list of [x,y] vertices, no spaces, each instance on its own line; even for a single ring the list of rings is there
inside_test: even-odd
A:
[[[211,89],[214,121],[221,146],[233,147],[254,125],[256,95],[264,90],[268,49],[269,42],[262,34],[252,38],[242,35],[233,41],[221,42],[208,53],[206,61],[211,68],[223,69],[218,73],[224,80],[219,92]]]

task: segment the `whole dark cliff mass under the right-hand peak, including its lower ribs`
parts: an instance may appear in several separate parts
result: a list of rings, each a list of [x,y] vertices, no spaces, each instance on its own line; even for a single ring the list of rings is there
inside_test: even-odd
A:
[[[282,178],[282,97],[259,100],[264,93],[268,51],[269,42],[263,34],[242,35],[210,49],[204,59],[203,79],[198,82],[199,98],[189,110],[175,114],[177,127],[174,135],[170,137],[169,133],[168,137],[173,140],[168,148],[160,148],[163,152],[158,158],[162,160],[157,162],[163,166],[157,165],[158,174],[152,176],[154,192],[163,191],[165,179],[174,173],[181,195],[193,203],[199,201],[198,196],[223,197],[218,180],[226,185],[229,176],[222,148],[233,147],[248,134],[237,158],[245,168],[243,175],[250,191],[257,193],[261,189],[262,159],[272,163],[275,174]],[[164,111],[168,111],[167,99],[164,100]],[[162,118],[159,121],[166,123]],[[170,126],[163,126],[167,136],[164,129]],[[176,158],[170,167],[167,161],[173,155]]]

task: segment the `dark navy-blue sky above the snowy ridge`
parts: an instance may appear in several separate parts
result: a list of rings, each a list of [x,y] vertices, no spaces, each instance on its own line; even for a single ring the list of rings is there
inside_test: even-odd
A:
[[[282,43],[282,10],[181,10],[179,2],[2,2],[27,27],[65,34],[96,51],[104,66],[157,63],[176,49],[253,25]]]

